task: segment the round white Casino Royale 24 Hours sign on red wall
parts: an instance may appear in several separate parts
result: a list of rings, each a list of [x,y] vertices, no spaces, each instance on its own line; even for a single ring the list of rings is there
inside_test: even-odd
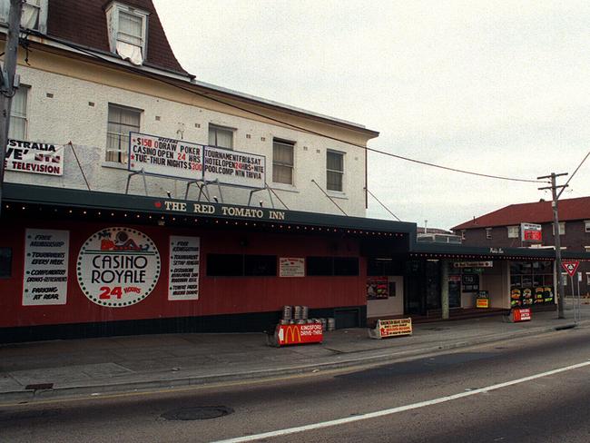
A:
[[[160,277],[160,253],[152,239],[130,228],[106,228],[84,241],[76,273],[88,299],[124,308],[145,299]]]

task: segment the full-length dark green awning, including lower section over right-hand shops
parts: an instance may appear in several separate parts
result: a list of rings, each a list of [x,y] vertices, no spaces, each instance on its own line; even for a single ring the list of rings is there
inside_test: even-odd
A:
[[[410,259],[554,260],[552,249],[463,246],[416,241],[416,223],[348,217],[317,212],[257,208],[220,202],[194,202],[113,192],[96,192],[5,183],[2,202],[4,217],[70,217],[93,222],[161,223],[166,226],[233,227],[257,231],[325,233],[360,236],[377,241],[383,249],[394,243],[397,252]],[[43,210],[38,212],[38,210]],[[198,223],[198,224],[197,224]],[[375,248],[372,248],[375,249]],[[380,253],[385,251],[379,251]],[[565,260],[590,261],[590,252],[562,251]]]

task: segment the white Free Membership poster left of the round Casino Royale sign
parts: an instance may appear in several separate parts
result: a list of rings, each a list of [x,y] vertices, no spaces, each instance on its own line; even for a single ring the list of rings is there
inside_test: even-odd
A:
[[[69,243],[69,231],[25,231],[23,306],[66,303]]]

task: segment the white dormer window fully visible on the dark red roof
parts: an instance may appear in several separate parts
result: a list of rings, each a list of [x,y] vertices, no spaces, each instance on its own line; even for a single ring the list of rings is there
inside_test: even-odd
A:
[[[150,13],[118,2],[106,7],[111,52],[140,65],[145,60],[147,21]]]

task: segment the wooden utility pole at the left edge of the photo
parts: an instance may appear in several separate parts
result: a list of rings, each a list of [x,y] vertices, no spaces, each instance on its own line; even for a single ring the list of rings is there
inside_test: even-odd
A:
[[[10,110],[12,108],[15,86],[16,59],[18,56],[18,39],[23,14],[23,0],[10,0],[8,15],[8,34],[6,35],[5,63],[0,80],[0,212],[2,211],[3,184],[5,180],[5,156],[10,127]]]

